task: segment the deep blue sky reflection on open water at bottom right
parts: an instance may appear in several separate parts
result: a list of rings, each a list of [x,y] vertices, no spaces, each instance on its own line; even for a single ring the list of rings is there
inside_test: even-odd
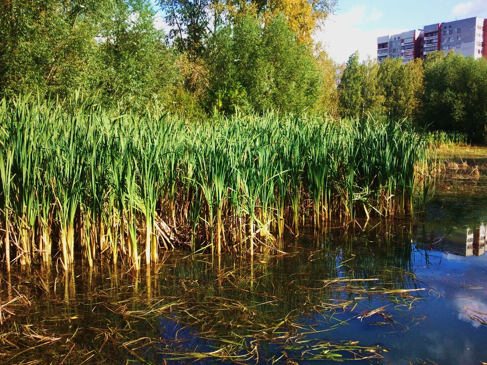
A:
[[[396,364],[416,363],[414,359],[440,364],[486,361],[487,326],[480,322],[487,321],[487,256],[416,250],[414,266],[422,286],[432,290],[415,302],[413,311],[387,307],[386,313],[399,324],[374,324],[384,320],[380,317],[352,320],[349,328],[337,327],[333,335],[346,339],[354,333],[361,343],[384,346],[389,349],[386,359]]]

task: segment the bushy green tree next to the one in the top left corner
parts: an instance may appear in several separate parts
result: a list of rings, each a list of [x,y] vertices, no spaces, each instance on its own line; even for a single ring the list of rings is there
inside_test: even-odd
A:
[[[105,103],[169,103],[177,68],[148,0],[116,0],[100,33],[91,82]]]

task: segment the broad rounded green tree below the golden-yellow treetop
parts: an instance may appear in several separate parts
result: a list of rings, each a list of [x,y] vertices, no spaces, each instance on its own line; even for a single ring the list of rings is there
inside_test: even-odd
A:
[[[250,15],[235,18],[212,38],[207,64],[209,105],[225,112],[314,111],[321,98],[318,65],[282,17],[264,28]]]

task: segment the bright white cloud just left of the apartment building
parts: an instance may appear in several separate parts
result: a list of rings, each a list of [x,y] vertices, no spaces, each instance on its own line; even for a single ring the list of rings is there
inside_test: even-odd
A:
[[[322,29],[314,35],[316,42],[321,42],[330,58],[337,63],[346,62],[355,51],[361,60],[377,57],[377,37],[406,31],[406,29],[376,28],[363,31],[361,26],[378,24],[383,14],[370,7],[357,6],[348,13],[331,15]]]

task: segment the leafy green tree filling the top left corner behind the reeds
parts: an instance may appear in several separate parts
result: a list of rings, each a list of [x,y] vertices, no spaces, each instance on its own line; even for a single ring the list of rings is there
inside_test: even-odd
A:
[[[86,86],[99,22],[110,1],[0,2],[0,92],[67,95]]]

